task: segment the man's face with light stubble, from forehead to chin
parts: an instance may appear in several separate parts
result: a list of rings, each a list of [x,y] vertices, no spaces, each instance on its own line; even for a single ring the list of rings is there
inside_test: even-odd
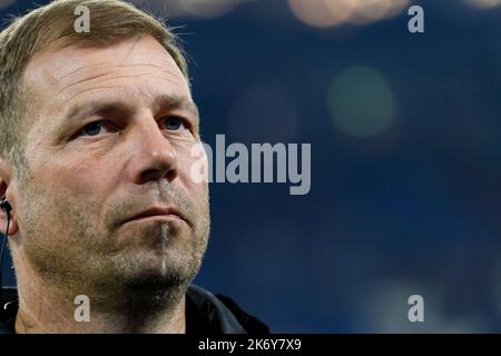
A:
[[[75,288],[190,281],[208,188],[190,179],[198,116],[174,59],[150,37],[73,46],[38,53],[24,78],[35,100],[17,222],[35,268]],[[130,220],[143,212],[154,216]]]

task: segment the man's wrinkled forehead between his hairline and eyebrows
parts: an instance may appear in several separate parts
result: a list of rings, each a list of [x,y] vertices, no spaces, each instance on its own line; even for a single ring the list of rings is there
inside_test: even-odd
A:
[[[91,96],[138,98],[139,93],[160,93],[190,98],[188,83],[173,57],[151,37],[106,47],[52,44],[30,60],[24,85],[38,107],[58,110]]]

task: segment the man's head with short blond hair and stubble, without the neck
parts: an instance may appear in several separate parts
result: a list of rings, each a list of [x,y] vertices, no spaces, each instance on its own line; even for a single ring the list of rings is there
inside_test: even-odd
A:
[[[75,31],[78,6],[88,33]],[[160,22],[115,0],[55,1],[17,20],[0,34],[0,128],[17,269],[27,261],[70,290],[191,281],[208,188],[189,175],[198,115]]]

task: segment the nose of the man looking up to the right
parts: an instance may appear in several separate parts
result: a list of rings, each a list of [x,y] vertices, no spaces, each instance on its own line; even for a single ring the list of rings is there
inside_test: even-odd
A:
[[[178,158],[155,119],[144,117],[138,120],[134,136],[132,157],[129,172],[132,181],[144,185],[148,181],[166,179],[171,182],[178,176]]]

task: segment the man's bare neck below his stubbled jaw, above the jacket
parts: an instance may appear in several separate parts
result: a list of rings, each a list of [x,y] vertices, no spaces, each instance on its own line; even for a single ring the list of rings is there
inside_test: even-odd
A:
[[[79,288],[85,293],[75,293],[66,284],[47,281],[28,264],[17,270],[22,273],[17,276],[16,333],[186,333],[184,287],[92,288],[86,284]]]

